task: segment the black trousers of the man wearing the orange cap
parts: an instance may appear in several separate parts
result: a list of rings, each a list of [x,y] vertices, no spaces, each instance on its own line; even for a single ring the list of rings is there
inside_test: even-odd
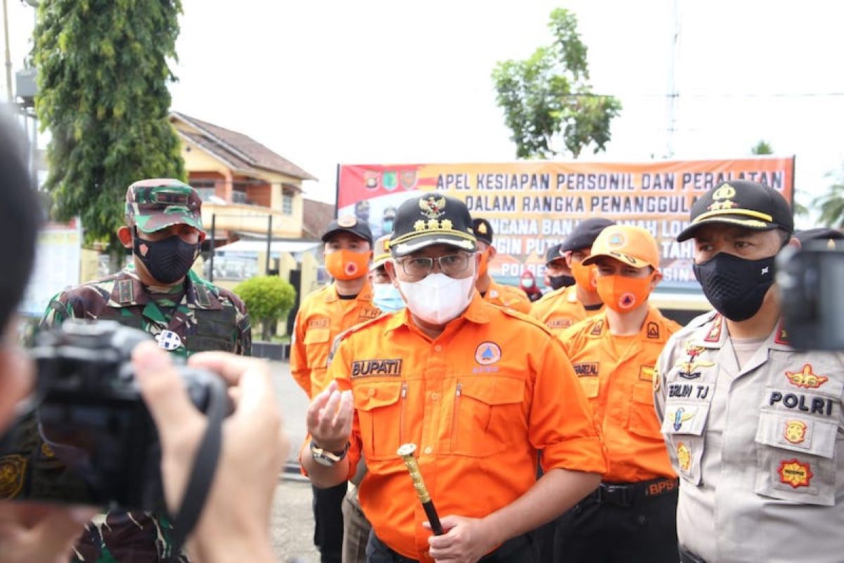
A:
[[[677,490],[629,506],[589,495],[557,519],[557,563],[677,563]]]

